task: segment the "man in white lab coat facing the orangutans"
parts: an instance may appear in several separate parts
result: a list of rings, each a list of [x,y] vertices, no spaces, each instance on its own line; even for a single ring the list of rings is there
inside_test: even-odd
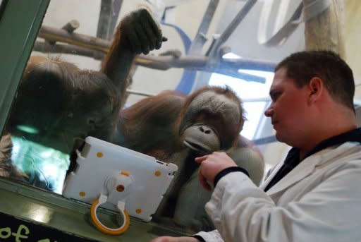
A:
[[[257,187],[223,152],[196,158],[215,231],[181,241],[360,241],[361,129],[349,66],[333,52],[291,54],[275,69],[265,115],[293,148]]]

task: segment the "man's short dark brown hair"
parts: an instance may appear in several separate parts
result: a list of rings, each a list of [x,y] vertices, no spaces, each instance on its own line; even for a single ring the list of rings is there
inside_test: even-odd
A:
[[[275,68],[286,68],[288,78],[298,87],[310,83],[314,77],[324,81],[326,89],[337,102],[354,110],[355,82],[353,71],[338,54],[328,50],[303,51],[290,54]]]

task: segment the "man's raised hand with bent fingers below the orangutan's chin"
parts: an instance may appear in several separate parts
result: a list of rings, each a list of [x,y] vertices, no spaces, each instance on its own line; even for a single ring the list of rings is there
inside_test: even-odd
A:
[[[198,172],[198,179],[206,190],[212,190],[208,182],[213,183],[216,174],[228,167],[237,167],[231,157],[225,152],[213,152],[211,155],[204,155],[195,158],[195,162],[200,163],[200,171]]]

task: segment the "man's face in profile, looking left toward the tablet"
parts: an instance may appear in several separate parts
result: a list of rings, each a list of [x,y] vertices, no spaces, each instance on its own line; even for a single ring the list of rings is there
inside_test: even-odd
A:
[[[286,68],[280,68],[274,75],[269,95],[272,102],[264,114],[271,118],[277,140],[300,147],[303,137],[307,137],[310,120],[307,85],[297,87],[294,80],[287,77]]]

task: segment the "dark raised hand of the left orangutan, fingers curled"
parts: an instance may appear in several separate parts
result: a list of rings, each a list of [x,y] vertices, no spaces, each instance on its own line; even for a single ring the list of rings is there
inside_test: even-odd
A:
[[[135,54],[148,54],[153,49],[159,49],[166,41],[161,29],[152,15],[145,8],[133,11],[121,20],[121,44]]]

